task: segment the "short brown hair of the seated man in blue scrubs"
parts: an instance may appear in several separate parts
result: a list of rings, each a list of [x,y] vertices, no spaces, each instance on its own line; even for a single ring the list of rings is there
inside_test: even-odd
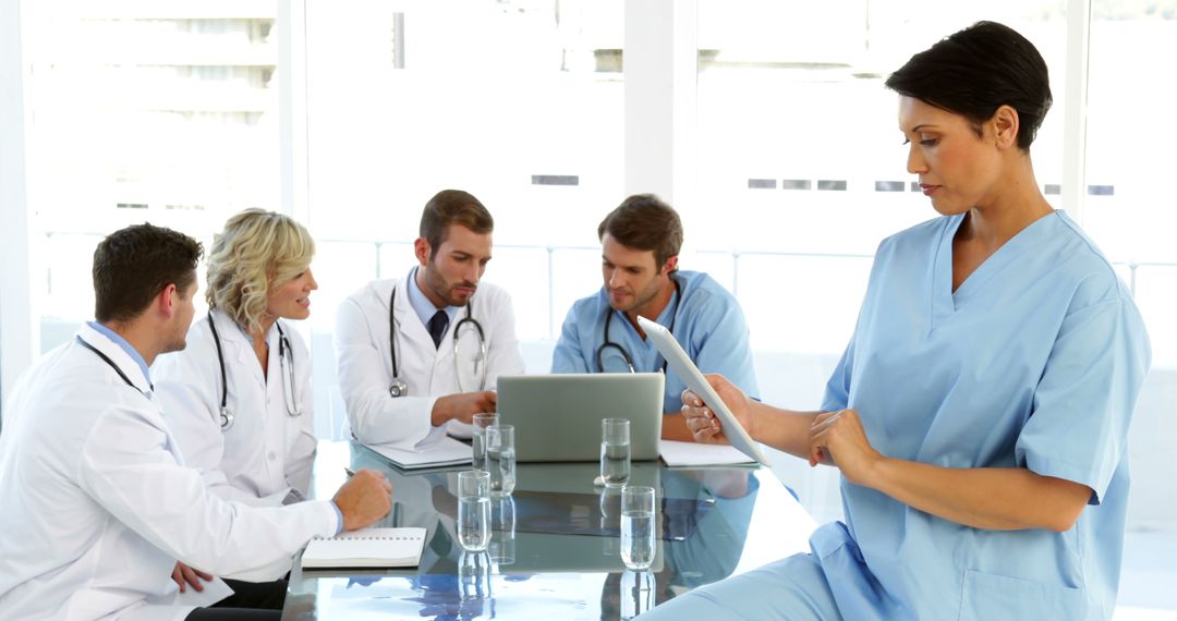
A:
[[[653,251],[661,269],[683,248],[683,222],[670,205],[653,194],[634,194],[609,213],[597,227],[597,239],[605,233],[626,248]]]

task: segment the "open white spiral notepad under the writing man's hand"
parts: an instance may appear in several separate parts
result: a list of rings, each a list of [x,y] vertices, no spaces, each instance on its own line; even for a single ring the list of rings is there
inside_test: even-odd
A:
[[[417,567],[426,533],[425,528],[363,528],[312,539],[302,553],[302,568]]]

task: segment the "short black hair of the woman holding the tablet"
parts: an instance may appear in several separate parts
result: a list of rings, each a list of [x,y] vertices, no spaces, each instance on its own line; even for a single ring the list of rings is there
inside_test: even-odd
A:
[[[1030,151],[1053,102],[1046,61],[1017,31],[978,21],[911,56],[887,88],[969,119],[973,129],[1000,106],[1018,111],[1018,147]]]

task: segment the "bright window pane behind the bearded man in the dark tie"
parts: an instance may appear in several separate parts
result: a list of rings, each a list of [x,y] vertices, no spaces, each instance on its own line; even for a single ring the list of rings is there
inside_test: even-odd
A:
[[[494,215],[486,280],[512,291],[520,339],[550,340],[599,286],[599,253],[574,248],[597,245],[623,198],[621,18],[616,0],[308,5],[317,359],[333,356],[346,295],[414,263],[421,208],[440,189]],[[530,352],[528,370],[546,372],[545,349]],[[338,429],[333,386],[319,381],[315,399]]]

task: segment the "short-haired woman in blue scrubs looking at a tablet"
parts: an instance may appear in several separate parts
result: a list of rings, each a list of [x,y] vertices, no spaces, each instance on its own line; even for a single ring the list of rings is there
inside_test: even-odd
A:
[[[1110,619],[1128,428],[1150,362],[1130,293],[1039,192],[1046,65],[979,22],[916,54],[907,169],[939,218],[879,246],[819,412],[720,398],[760,442],[842,470],[845,523],[812,554],[680,595],[650,619]],[[693,393],[696,440],[725,441]]]

